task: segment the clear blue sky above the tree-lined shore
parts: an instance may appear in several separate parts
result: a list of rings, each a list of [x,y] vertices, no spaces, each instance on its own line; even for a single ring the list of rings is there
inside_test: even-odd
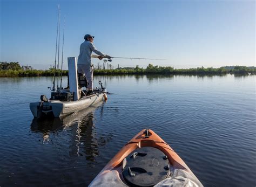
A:
[[[254,1],[0,2],[0,61],[38,69],[54,64],[60,4],[64,68],[67,57],[78,57],[86,33],[95,36],[98,50],[112,57],[166,59],[113,59],[114,67],[255,66]]]

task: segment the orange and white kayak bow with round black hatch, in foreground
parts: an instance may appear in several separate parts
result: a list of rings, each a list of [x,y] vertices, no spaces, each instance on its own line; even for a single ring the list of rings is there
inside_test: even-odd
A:
[[[203,186],[185,162],[153,130],[134,136],[89,185]]]

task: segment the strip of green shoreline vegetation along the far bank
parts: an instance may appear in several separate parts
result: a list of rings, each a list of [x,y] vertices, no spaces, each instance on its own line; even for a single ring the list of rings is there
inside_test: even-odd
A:
[[[29,66],[30,67],[30,66]],[[61,71],[54,68],[49,70],[33,70],[28,66],[20,66],[18,62],[7,63],[0,62],[0,77],[38,77],[38,76],[53,76],[54,74],[60,75]],[[68,75],[68,70],[62,71],[63,76]],[[124,67],[116,69],[95,69],[94,75],[122,75],[122,74],[173,74],[173,75],[224,75],[224,74],[256,74],[256,67],[246,66],[224,66],[219,68],[213,67],[197,67],[187,69],[176,69],[170,66],[153,66],[149,64],[146,68]]]

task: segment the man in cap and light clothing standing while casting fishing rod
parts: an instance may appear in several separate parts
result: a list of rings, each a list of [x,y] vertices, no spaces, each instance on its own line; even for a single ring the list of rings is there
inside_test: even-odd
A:
[[[103,54],[96,49],[93,45],[93,38],[94,36],[91,36],[91,34],[86,34],[84,36],[85,41],[80,45],[80,53],[77,61],[77,71],[84,74],[87,79],[89,89],[89,92],[87,93],[88,95],[91,95],[93,90],[93,65],[91,64],[92,51],[99,55],[96,57],[100,60],[102,60],[103,57],[111,58],[107,54]]]

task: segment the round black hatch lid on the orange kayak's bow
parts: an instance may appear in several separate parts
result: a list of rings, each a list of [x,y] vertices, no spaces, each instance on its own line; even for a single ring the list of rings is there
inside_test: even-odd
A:
[[[131,186],[153,186],[170,174],[167,156],[157,148],[134,150],[123,161],[123,177]]]

